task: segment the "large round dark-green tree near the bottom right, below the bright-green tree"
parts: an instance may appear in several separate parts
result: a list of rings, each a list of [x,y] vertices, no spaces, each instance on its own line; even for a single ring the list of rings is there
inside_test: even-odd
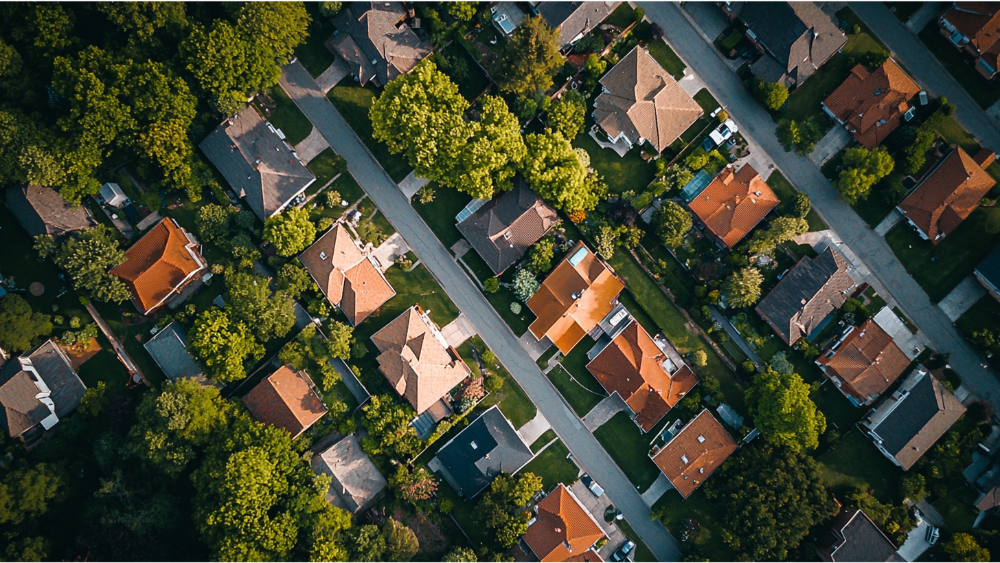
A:
[[[705,494],[724,515],[722,540],[750,561],[785,559],[809,528],[837,512],[816,460],[767,444],[730,457]]]

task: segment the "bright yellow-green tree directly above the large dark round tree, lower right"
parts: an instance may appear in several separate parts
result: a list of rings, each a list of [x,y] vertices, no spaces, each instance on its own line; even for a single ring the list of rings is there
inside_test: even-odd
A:
[[[797,374],[762,370],[747,390],[750,416],[761,436],[793,451],[819,446],[826,430],[826,417],[809,398],[810,387]]]

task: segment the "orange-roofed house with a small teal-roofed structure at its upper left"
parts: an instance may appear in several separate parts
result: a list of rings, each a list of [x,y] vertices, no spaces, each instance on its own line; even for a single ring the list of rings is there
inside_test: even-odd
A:
[[[697,194],[688,209],[716,242],[732,249],[781,201],[749,164],[730,164]]]

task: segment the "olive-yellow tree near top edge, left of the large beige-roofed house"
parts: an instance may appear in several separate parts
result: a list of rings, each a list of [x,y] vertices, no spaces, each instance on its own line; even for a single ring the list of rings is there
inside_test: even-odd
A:
[[[559,32],[534,16],[525,18],[514,30],[490,74],[504,92],[527,96],[536,90],[548,90],[563,63]]]

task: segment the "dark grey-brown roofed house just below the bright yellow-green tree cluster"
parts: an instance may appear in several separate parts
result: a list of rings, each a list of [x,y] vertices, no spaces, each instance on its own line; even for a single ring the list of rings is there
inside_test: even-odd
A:
[[[558,222],[556,210],[535,195],[518,175],[514,189],[498,194],[477,209],[458,224],[458,231],[499,276]]]

